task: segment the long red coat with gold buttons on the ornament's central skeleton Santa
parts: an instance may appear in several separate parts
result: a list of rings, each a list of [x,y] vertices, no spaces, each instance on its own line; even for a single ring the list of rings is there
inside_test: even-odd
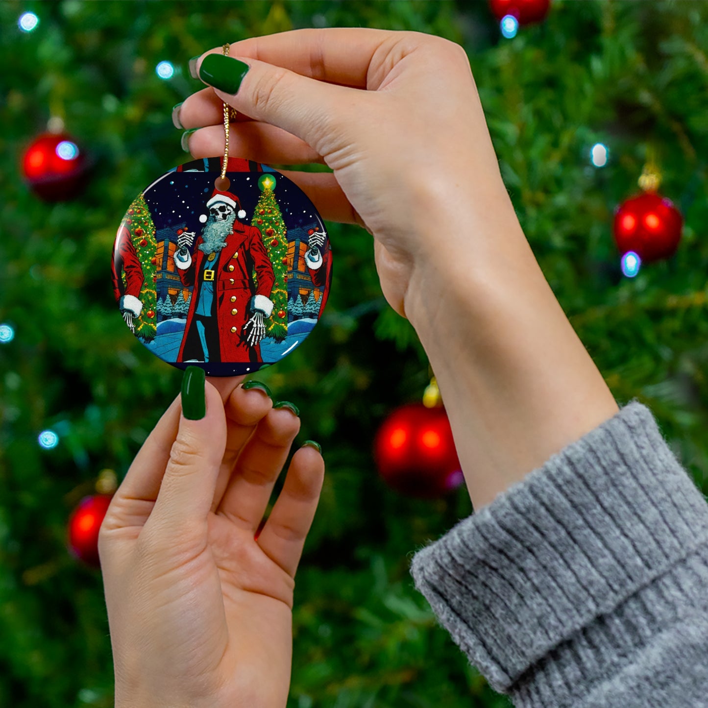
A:
[[[199,237],[195,242],[190,267],[185,270],[177,268],[183,284],[187,287],[193,286],[187,324],[177,356],[178,362],[184,360],[185,346],[188,346],[187,359],[193,358],[189,355],[189,349],[192,343],[198,341],[199,338],[194,321],[194,311],[199,302],[199,290],[203,281],[195,278],[195,275],[201,275],[202,263],[207,258],[207,254],[198,249],[201,243],[202,239]],[[270,302],[270,291],[273,289],[275,280],[273,265],[265,251],[263,236],[254,226],[242,224],[236,219],[234,229],[227,236],[226,243],[227,246],[217,253],[215,265],[213,265],[219,353],[217,355],[210,351],[209,360],[210,362],[224,363],[260,362],[263,361],[261,347],[258,345],[249,346],[246,343],[243,329],[244,324],[251,319],[253,314],[251,308],[253,296],[261,295],[268,298],[268,302]],[[258,276],[258,287],[253,283],[254,268]],[[270,309],[271,312],[267,313],[268,316],[272,314],[272,303]],[[246,333],[249,332],[250,329],[246,331]]]

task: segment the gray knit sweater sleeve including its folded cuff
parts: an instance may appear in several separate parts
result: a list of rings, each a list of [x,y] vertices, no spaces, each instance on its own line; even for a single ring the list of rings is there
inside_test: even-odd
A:
[[[518,707],[708,706],[708,505],[636,399],[411,572]]]

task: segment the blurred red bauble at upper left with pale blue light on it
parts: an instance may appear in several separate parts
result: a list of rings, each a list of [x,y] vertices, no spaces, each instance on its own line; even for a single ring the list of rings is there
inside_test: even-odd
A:
[[[69,135],[43,133],[26,149],[22,172],[38,197],[50,202],[72,199],[86,183],[86,155]]]

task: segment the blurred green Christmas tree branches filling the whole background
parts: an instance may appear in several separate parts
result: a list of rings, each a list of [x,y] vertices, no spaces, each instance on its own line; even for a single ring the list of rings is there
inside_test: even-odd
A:
[[[122,479],[178,395],[182,372],[125,326],[110,258],[134,195],[190,159],[171,108],[204,89],[189,78],[189,57],[224,41],[366,26],[462,45],[501,173],[554,294],[617,401],[636,397],[651,408],[708,493],[708,4],[554,0],[543,23],[513,39],[501,35],[485,2],[222,7],[0,3],[0,58],[11,67],[0,78],[0,326],[8,328],[0,338],[2,707],[113,707],[101,573],[69,555],[67,520],[95,493],[103,468]],[[26,33],[18,19],[30,10],[39,22]],[[169,79],[156,71],[162,62],[171,62]],[[23,149],[50,118],[95,164],[86,191],[57,204],[39,200],[18,171]],[[651,142],[662,191],[685,219],[683,240],[670,261],[627,278],[612,219],[636,190]],[[591,161],[600,144],[609,148],[604,166]],[[425,184],[427,176],[415,177]],[[458,178],[451,166],[450,179]],[[297,224],[299,215],[283,212]],[[440,222],[442,249],[450,224],[443,216],[430,215]],[[287,708],[508,707],[409,575],[411,553],[469,515],[467,491],[406,498],[379,479],[372,457],[390,411],[420,400],[430,377],[425,353],[382,297],[370,234],[351,224],[326,228],[336,263],[324,316],[307,341],[256,375],[276,400],[299,406],[295,447],[317,440],[327,468],[297,571]],[[513,278],[508,287],[508,297],[523,297]],[[302,305],[293,292],[291,307],[293,297]],[[169,295],[165,306],[171,312]],[[57,436],[52,449],[38,442],[44,430]]]

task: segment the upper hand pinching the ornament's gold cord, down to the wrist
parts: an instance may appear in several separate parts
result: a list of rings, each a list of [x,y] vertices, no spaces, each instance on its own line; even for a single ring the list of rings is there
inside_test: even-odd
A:
[[[249,68],[236,92],[239,59]],[[202,128],[188,137],[193,156],[224,153],[226,101],[241,113],[230,154],[326,163],[333,173],[285,174],[324,219],[356,222],[374,236],[384,295],[414,325],[431,263],[491,249],[485,241],[496,234],[471,236],[468,228],[475,205],[477,218],[493,210],[518,229],[467,55],[454,42],[416,32],[295,30],[234,42],[229,57],[211,50],[193,67],[216,89],[189,96],[178,111],[183,127]],[[468,207],[473,223],[463,228]],[[439,224],[434,235],[421,228],[431,222]]]

